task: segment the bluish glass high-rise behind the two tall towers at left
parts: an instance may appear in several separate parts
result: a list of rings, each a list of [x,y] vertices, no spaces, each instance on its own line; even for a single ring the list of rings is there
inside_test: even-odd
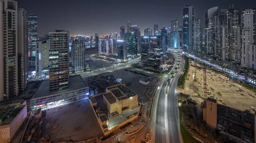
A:
[[[37,41],[37,16],[34,14],[28,15],[28,36],[29,36],[29,50],[35,49],[35,42]]]

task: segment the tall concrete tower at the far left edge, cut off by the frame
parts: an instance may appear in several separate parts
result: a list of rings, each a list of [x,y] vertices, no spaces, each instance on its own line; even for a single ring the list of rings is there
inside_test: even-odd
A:
[[[0,101],[16,97],[19,90],[17,10],[16,1],[0,0]]]

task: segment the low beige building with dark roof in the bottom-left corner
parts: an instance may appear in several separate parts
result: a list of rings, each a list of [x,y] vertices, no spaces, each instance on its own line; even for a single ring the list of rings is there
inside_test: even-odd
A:
[[[26,116],[26,101],[0,107],[0,143],[11,142]]]

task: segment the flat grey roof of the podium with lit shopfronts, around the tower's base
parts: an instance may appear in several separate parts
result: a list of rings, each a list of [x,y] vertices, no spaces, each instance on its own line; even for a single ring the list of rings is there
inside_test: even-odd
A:
[[[55,95],[79,90],[88,87],[84,79],[80,75],[69,76],[68,87],[62,90],[49,91],[49,79],[44,80],[32,98],[41,98],[44,96]]]

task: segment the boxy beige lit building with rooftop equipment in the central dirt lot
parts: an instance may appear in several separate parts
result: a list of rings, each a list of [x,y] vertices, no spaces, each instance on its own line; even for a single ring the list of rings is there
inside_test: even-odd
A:
[[[136,119],[140,111],[138,95],[125,84],[107,87],[89,101],[105,135]]]

